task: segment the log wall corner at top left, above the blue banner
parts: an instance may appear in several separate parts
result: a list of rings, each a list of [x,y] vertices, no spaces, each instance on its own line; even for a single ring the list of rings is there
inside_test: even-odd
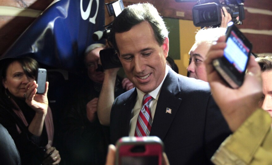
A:
[[[0,1],[0,56],[53,0]]]

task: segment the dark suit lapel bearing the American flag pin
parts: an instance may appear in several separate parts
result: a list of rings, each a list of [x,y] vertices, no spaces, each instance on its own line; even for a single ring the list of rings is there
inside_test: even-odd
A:
[[[159,94],[150,132],[150,136],[158,136],[162,140],[167,134],[182,100],[176,97],[176,95],[180,93],[180,87],[178,77],[175,74],[176,73],[169,69]],[[167,108],[168,112],[166,112]]]

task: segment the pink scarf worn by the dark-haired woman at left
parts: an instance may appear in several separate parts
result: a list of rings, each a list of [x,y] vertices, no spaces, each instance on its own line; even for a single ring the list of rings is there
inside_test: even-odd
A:
[[[11,99],[12,100],[12,99]],[[16,113],[16,115],[23,121],[23,124],[27,127],[28,126],[28,122],[25,119],[22,110],[19,108],[19,106],[15,103],[14,100],[12,100],[12,102],[15,104],[15,106],[17,107],[18,110],[13,109],[13,111]],[[20,128],[18,127],[18,125],[16,124],[17,127],[17,131],[19,132],[19,134],[22,132],[20,130]],[[54,137],[54,124],[53,124],[53,116],[52,116],[52,111],[50,109],[50,107],[48,106],[47,109],[47,114],[45,116],[45,128],[46,128],[46,132],[47,132],[47,137],[48,137],[48,144],[45,146],[46,149],[50,148],[53,144],[53,137]]]

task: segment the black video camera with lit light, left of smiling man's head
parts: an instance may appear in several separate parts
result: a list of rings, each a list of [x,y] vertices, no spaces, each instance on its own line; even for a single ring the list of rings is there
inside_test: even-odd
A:
[[[105,5],[108,10],[108,15],[109,16],[114,15],[114,17],[117,17],[117,15],[119,15],[121,11],[123,11],[125,8],[122,0],[105,3]],[[111,25],[112,23],[104,26],[105,28],[104,30],[93,33],[92,39],[94,41],[100,41],[101,39],[108,39],[110,35],[110,31],[111,31]],[[114,48],[107,48],[107,49],[100,50],[99,54],[100,54],[100,60],[101,60],[103,69],[122,67],[122,64],[117,56],[117,52]]]

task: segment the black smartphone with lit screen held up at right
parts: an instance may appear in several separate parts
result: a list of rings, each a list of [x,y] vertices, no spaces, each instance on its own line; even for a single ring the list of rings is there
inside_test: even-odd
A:
[[[223,57],[213,60],[213,66],[223,79],[236,89],[244,82],[252,44],[233,22],[228,23],[226,43]]]

